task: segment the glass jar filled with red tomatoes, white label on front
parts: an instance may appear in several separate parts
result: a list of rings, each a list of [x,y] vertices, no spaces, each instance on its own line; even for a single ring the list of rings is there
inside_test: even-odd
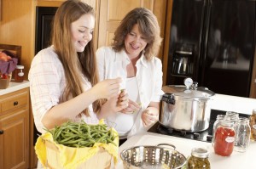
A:
[[[232,121],[220,121],[215,131],[214,152],[217,155],[230,156],[234,149],[235,129]]]

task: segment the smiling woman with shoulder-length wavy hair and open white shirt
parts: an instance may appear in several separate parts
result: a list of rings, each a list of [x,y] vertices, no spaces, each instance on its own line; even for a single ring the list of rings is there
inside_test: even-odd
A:
[[[131,10],[115,31],[113,41],[113,47],[99,48],[96,58],[100,80],[117,76],[125,80],[129,106],[107,119],[119,138],[125,139],[158,121],[163,92],[162,64],[155,57],[161,42],[156,17],[147,8]]]

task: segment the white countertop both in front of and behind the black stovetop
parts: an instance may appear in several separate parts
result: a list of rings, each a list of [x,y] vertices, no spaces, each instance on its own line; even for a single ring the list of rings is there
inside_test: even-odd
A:
[[[241,98],[236,96],[216,94],[210,102],[211,109],[236,111],[251,115],[253,109],[256,109],[256,99]],[[119,155],[123,149],[138,145],[157,145],[157,144],[173,144],[176,150],[186,157],[189,157],[191,149],[195,147],[203,147],[210,152],[209,161],[212,169],[253,169],[255,166],[256,157],[256,142],[251,141],[249,148],[245,153],[233,151],[229,157],[216,155],[211,143],[190,140],[185,138],[176,138],[153,132],[145,132],[143,134],[129,138],[124,144],[119,147]],[[119,159],[116,166],[117,169],[122,169],[123,164]]]

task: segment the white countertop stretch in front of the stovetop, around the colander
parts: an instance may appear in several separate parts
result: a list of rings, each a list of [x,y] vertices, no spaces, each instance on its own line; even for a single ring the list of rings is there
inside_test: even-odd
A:
[[[176,150],[186,157],[189,157],[191,149],[195,147],[203,147],[209,151],[209,161],[212,169],[253,169],[255,168],[255,156],[256,156],[256,142],[251,141],[249,148],[245,153],[239,153],[233,151],[229,157],[216,155],[212,148],[211,143],[195,141],[185,138],[176,138],[172,136],[166,136],[147,132],[143,135],[137,135],[129,138],[124,144],[119,147],[119,154],[123,149],[130,148],[137,145],[156,145],[156,144],[173,144],[176,146]],[[172,149],[172,148],[171,148]],[[123,164],[119,159],[119,163],[116,169],[122,169]]]

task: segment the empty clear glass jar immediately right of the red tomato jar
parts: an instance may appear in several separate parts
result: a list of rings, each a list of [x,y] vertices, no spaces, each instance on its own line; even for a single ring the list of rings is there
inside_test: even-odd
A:
[[[250,144],[251,127],[249,119],[240,117],[237,121],[235,150],[238,152],[246,152]]]

